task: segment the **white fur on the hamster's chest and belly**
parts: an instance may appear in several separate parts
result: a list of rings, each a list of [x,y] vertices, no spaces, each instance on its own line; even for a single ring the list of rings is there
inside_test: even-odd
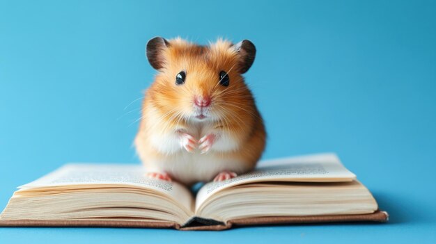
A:
[[[193,124],[187,128],[187,133],[199,139],[208,133],[219,134],[217,141],[212,145],[209,152],[201,154],[198,149],[187,152],[180,145],[180,138],[174,131],[162,135],[155,133],[150,135],[150,142],[162,158],[153,159],[153,162],[144,162],[149,172],[167,172],[175,179],[184,184],[192,184],[198,181],[210,181],[219,172],[230,170],[236,173],[245,172],[247,163],[241,162],[229,153],[238,150],[239,143],[232,135],[224,131],[217,131],[208,127],[207,124]]]

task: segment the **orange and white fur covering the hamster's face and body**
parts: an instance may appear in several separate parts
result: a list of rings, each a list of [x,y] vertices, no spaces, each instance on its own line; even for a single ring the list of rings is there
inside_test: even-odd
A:
[[[184,184],[210,181],[220,170],[233,170],[238,174],[252,170],[265,149],[266,134],[254,98],[238,72],[238,52],[231,48],[231,42],[225,40],[218,40],[208,47],[180,38],[169,40],[169,44],[170,47],[163,49],[161,54],[164,66],[146,91],[143,101],[143,118],[135,138],[141,161],[148,170],[169,171],[174,179]],[[182,70],[186,72],[186,81],[178,86],[175,77]],[[228,87],[219,85],[221,70],[230,76]],[[202,122],[192,122],[194,97],[206,95],[212,99],[210,114],[214,117],[213,120],[205,122],[207,126]],[[185,175],[189,172],[178,174],[178,170],[184,170],[178,169],[178,165],[189,168],[189,161],[194,160],[192,154],[180,151],[180,148],[164,151],[153,143],[153,140],[160,140],[159,136],[165,138],[166,135],[171,136],[178,130],[186,129],[199,139],[205,136],[205,128],[229,135],[226,138],[234,141],[236,146],[221,152],[214,152],[212,146],[209,155],[195,152],[194,154],[198,154],[195,160],[205,160],[205,167],[198,169],[204,174],[200,172],[192,174],[192,177]],[[169,143],[171,141],[168,140]],[[208,157],[211,155],[230,163],[222,167],[208,165]],[[186,162],[180,164],[178,161]],[[208,172],[208,168],[216,172]]]

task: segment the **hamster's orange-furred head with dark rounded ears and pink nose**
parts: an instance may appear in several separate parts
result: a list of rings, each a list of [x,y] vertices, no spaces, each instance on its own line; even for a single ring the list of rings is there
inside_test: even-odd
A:
[[[148,41],[146,55],[158,70],[148,95],[170,120],[228,122],[254,108],[242,77],[256,56],[249,40],[201,46],[157,37]]]

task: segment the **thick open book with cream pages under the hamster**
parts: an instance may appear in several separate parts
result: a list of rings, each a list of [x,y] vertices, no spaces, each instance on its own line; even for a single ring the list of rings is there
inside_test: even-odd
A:
[[[67,164],[20,186],[0,226],[173,227],[379,221],[373,196],[335,154],[263,161],[196,194],[141,165]]]

